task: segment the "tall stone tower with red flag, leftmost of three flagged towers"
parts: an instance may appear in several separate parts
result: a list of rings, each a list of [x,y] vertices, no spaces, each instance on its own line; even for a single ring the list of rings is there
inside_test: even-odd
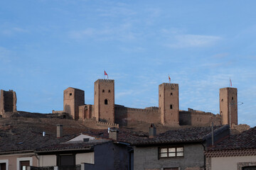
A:
[[[114,123],[114,80],[95,81],[94,117],[97,121]]]

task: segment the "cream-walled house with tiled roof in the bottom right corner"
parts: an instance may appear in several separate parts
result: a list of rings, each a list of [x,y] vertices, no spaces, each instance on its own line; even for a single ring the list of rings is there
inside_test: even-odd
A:
[[[256,127],[208,147],[206,170],[256,169]]]

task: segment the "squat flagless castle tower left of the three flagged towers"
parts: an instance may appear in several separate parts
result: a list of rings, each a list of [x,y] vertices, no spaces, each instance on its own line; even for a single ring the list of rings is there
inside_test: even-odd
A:
[[[73,119],[79,118],[79,106],[85,104],[85,91],[69,87],[63,91],[63,111]]]

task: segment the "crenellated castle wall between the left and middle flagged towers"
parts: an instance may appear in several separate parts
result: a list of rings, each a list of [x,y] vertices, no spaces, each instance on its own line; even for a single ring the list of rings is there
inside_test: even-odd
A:
[[[127,125],[129,122],[161,123],[158,109],[115,107],[115,123]]]

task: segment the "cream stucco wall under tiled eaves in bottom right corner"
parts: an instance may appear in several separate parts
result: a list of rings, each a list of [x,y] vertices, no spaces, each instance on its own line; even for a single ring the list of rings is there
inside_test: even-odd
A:
[[[211,170],[236,170],[238,162],[256,162],[256,156],[247,157],[212,157]]]

